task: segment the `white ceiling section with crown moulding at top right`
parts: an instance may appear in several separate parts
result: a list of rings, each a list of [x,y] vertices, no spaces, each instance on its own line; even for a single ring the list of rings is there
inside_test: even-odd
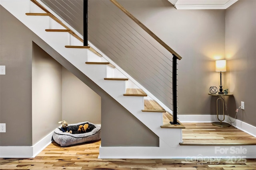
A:
[[[177,10],[225,10],[238,0],[168,0]]]

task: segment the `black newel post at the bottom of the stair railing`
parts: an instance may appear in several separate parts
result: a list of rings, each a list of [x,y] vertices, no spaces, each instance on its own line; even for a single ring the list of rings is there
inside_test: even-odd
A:
[[[172,125],[179,125],[177,121],[177,59],[176,55],[173,54],[172,58],[172,102],[173,102],[173,122]]]

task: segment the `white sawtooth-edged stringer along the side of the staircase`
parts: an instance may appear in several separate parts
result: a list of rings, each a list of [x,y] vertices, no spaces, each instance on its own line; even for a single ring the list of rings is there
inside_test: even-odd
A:
[[[46,32],[45,29],[52,27],[52,18],[49,16],[26,16],[25,13],[28,13],[33,6],[30,0],[0,0],[0,4],[153,131],[160,139],[160,146],[156,148],[175,149],[179,147],[179,143],[182,142],[181,129],[160,128],[162,113],[142,112],[144,108],[143,97],[123,96],[125,93],[124,81],[104,80],[107,76],[106,65],[85,64],[88,61],[88,53],[90,53],[87,49],[65,48],[65,45],[82,46],[82,42],[73,40],[74,37],[67,32]],[[35,10],[33,9],[33,11]]]

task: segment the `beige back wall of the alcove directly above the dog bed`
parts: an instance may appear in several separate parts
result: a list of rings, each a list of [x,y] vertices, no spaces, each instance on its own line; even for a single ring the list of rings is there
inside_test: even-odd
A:
[[[101,124],[101,97],[62,67],[62,119]]]

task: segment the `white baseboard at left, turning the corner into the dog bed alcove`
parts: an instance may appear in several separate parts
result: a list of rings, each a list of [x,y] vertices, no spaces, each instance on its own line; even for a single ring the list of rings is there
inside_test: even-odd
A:
[[[49,133],[33,146],[0,146],[0,158],[34,158],[52,142]]]

